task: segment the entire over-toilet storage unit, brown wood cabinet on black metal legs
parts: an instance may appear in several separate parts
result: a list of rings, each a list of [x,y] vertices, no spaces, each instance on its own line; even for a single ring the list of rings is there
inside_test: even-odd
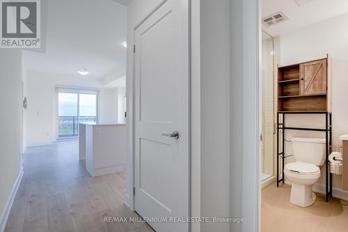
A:
[[[331,152],[332,117],[331,117],[331,68],[329,56],[292,65],[278,65],[278,114],[277,114],[277,186],[284,183],[285,130],[307,130],[325,133],[325,199],[332,196],[332,174],[329,171],[329,154]],[[322,114],[326,121],[323,128],[287,127],[287,114]],[[280,143],[280,134],[282,141]],[[280,179],[280,160],[281,173]]]

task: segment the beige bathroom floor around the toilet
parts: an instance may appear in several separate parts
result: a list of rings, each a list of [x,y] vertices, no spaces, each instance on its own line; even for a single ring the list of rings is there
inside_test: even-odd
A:
[[[331,199],[325,202],[317,194],[313,206],[301,208],[290,203],[289,185],[276,187],[272,183],[262,189],[261,231],[347,232],[348,206],[345,201]]]

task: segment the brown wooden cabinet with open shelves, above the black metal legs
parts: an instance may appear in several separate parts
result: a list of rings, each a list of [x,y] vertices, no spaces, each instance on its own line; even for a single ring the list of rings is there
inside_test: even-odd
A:
[[[326,111],[327,59],[278,66],[278,111]]]

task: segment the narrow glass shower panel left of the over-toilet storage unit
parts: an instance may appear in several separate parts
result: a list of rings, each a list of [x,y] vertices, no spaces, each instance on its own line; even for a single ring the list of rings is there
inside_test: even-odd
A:
[[[274,40],[262,31],[262,173],[274,176]]]

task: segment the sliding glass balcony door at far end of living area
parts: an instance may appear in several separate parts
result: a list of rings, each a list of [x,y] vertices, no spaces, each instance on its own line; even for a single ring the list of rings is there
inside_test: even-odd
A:
[[[79,123],[97,123],[97,91],[58,88],[58,138],[78,137]]]

